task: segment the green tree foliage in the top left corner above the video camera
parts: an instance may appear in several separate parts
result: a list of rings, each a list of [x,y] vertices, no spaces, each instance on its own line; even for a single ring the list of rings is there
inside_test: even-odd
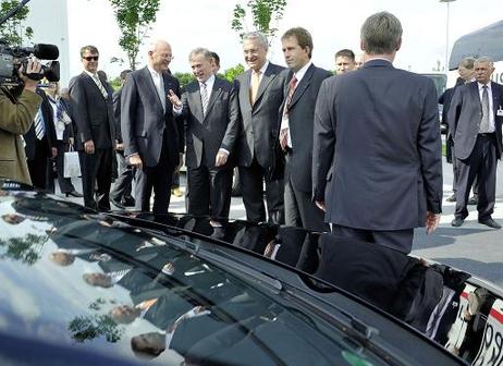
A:
[[[1,14],[10,12],[12,9],[17,7],[17,0],[0,0],[1,1]],[[3,23],[0,26],[0,38],[7,41],[10,46],[22,46],[23,40],[26,37],[28,40],[33,38],[33,28],[30,26],[24,27],[26,16],[28,16],[28,7],[23,7],[21,10]]]

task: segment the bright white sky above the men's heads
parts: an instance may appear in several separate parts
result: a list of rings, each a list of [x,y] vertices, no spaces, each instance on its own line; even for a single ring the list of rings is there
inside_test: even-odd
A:
[[[34,0],[40,1],[40,0]],[[173,72],[189,72],[187,56],[196,47],[219,53],[222,69],[243,62],[237,34],[231,29],[232,11],[246,0],[161,0],[157,22],[149,32],[148,44],[168,40],[173,49]],[[452,47],[458,37],[502,19],[501,0],[456,0],[450,5],[449,38]],[[395,65],[414,72],[431,72],[445,63],[447,4],[439,0],[287,0],[284,16],[277,27],[279,36],[272,42],[269,58],[284,65],[280,36],[293,26],[307,28],[314,38],[312,61],[333,70],[333,56],[342,48],[359,51],[359,29],[364,21],[378,11],[389,11],[402,22],[402,49]],[[57,21],[57,20],[54,20]],[[49,21],[42,26],[53,26]],[[78,50],[95,45],[100,51],[100,69],[110,76],[127,69],[127,63],[111,64],[112,57],[125,53],[118,46],[120,36],[113,10],[107,0],[68,0],[70,74],[81,72]],[[39,25],[40,26],[40,25]],[[248,29],[254,30],[248,22]],[[139,52],[139,64],[146,63],[146,47]]]

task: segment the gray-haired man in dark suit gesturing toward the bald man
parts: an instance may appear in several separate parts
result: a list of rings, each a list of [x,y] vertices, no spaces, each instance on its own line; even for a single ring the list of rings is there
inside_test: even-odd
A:
[[[188,213],[211,216],[213,228],[229,217],[233,151],[238,134],[234,86],[213,74],[211,52],[196,48],[188,57],[197,81],[189,83],[182,101],[186,126]],[[214,229],[216,232],[218,229]]]

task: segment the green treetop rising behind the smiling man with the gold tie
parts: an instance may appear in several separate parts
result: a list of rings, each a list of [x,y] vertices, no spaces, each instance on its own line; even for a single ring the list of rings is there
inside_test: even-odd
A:
[[[254,30],[263,33],[271,41],[278,33],[278,28],[271,25],[271,22],[278,22],[283,17],[285,7],[286,0],[248,0],[246,8],[250,12]],[[248,30],[246,21],[249,16],[247,15],[245,7],[241,3],[234,7],[231,28],[237,32],[240,38],[243,38]]]

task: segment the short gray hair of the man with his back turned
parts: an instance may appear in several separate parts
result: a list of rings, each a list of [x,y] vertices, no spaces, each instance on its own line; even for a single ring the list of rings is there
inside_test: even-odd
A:
[[[368,54],[392,53],[402,38],[402,24],[389,12],[370,15],[361,26],[361,41]]]

